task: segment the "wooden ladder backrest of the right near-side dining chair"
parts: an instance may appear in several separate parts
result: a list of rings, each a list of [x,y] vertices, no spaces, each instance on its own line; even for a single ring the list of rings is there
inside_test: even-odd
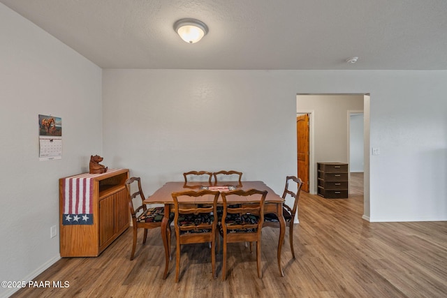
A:
[[[267,193],[268,191],[258,191],[257,189],[249,189],[248,191],[238,189],[236,191],[222,192],[221,198],[223,202],[223,233],[228,233],[228,230],[258,229],[260,231],[264,222],[264,202],[265,198],[267,197]],[[243,198],[234,199],[234,196]],[[231,198],[232,200],[228,200],[230,199],[230,197],[233,197]],[[259,220],[253,223],[249,223],[248,221],[237,223],[232,221],[231,214],[239,214],[239,216],[243,216],[244,214],[247,216],[255,215],[259,217]],[[227,215],[229,216],[227,217]],[[230,225],[228,224],[229,222]]]

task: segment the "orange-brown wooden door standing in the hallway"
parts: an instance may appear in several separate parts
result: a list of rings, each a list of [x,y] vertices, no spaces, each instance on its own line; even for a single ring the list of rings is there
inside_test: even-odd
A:
[[[296,117],[298,178],[301,190],[309,193],[309,114]]]

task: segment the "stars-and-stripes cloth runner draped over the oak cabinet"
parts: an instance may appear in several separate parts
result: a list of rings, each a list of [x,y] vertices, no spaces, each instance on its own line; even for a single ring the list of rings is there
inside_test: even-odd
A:
[[[93,225],[93,178],[101,175],[85,173],[63,180],[63,225]]]

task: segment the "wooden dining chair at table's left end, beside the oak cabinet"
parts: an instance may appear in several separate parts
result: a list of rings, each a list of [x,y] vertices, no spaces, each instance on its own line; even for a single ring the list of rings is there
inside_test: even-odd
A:
[[[161,227],[161,220],[164,216],[164,207],[147,207],[146,204],[143,204],[143,200],[145,200],[145,195],[142,192],[141,188],[141,179],[140,177],[131,177],[125,182],[127,193],[129,194],[129,210],[131,211],[132,216],[132,225],[133,225],[133,244],[132,244],[132,252],[131,252],[131,260],[133,260],[133,256],[135,255],[135,247],[137,245],[137,235],[138,229],[144,229],[145,234],[142,239],[142,243],[146,243],[147,239],[147,229],[159,228]],[[140,204],[138,204],[138,208],[133,208],[133,199],[140,197]],[[138,200],[138,201],[140,201]],[[173,221],[174,214],[170,213],[168,229],[166,232],[168,233],[168,247],[170,247],[170,223]]]

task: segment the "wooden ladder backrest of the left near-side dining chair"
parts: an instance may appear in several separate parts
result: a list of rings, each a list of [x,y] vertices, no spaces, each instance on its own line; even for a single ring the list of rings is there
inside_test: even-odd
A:
[[[174,200],[174,226],[175,226],[175,232],[177,234],[180,233],[180,231],[191,231],[194,232],[194,230],[212,230],[217,227],[217,216],[213,218],[213,220],[209,223],[200,223],[199,225],[191,223],[188,224],[182,224],[179,225],[179,217],[181,215],[198,215],[198,214],[208,214],[209,216],[214,216],[217,214],[217,200],[219,199],[219,191],[182,191],[177,193],[172,193],[173,200]],[[197,204],[191,204],[191,198],[187,200],[189,203],[182,204],[182,200],[180,197],[187,196],[187,197],[194,197],[198,198],[195,201]],[[212,214],[211,214],[212,213]]]

